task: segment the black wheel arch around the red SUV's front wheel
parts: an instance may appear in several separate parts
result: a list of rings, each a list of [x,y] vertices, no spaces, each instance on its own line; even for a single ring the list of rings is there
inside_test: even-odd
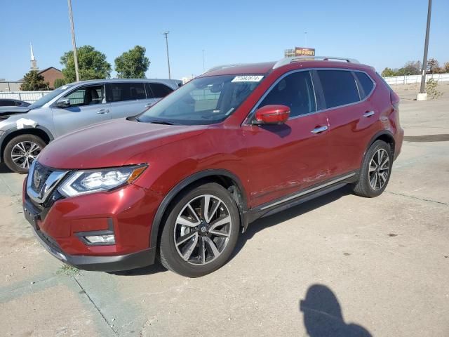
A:
[[[175,187],[173,187],[163,198],[153,219],[149,236],[150,247],[156,247],[159,245],[159,239],[162,232],[161,224],[166,216],[166,211],[175,197],[186,188],[192,187],[192,185],[199,183],[218,183],[219,185],[225,187],[231,193],[234,201],[236,201],[240,213],[241,225],[243,225],[243,217],[247,210],[248,204],[246,191],[241,184],[241,180],[230,171],[222,169],[208,169],[194,173],[192,176],[181,180],[180,183],[175,185]]]

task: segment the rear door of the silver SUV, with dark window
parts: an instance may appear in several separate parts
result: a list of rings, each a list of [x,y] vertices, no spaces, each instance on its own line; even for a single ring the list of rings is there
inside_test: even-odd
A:
[[[142,82],[111,82],[106,86],[107,101],[111,104],[112,118],[132,117],[154,104],[151,91]]]

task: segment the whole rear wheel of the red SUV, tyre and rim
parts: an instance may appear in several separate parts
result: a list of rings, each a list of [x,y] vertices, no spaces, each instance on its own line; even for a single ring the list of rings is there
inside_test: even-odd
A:
[[[387,187],[392,164],[390,145],[376,140],[363,158],[359,180],[353,184],[354,193],[367,198],[382,194]]]

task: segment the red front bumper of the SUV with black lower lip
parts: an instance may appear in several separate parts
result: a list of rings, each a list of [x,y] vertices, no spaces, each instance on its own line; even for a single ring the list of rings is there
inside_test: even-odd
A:
[[[156,248],[149,246],[149,234],[160,198],[142,187],[127,185],[55,201],[50,197],[50,204],[36,204],[24,184],[22,203],[34,234],[55,258],[83,270],[112,272],[154,263]],[[82,235],[108,229],[114,232],[114,244],[83,240]]]

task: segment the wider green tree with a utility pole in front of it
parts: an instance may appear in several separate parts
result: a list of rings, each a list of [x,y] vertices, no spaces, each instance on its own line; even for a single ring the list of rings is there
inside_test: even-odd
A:
[[[93,46],[81,46],[76,48],[78,57],[78,69],[80,81],[86,79],[107,79],[111,76],[111,65],[106,60],[106,55],[96,51]],[[66,83],[76,81],[75,62],[73,51],[67,51],[61,57],[64,66],[62,74]]]

